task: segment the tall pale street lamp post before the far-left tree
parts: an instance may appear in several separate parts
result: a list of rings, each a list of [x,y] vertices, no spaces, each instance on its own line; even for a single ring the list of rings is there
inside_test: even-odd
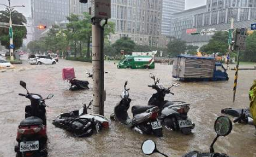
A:
[[[16,5],[16,6],[11,6],[11,2],[9,1],[9,6],[5,5],[5,4],[0,4],[0,5],[4,5],[5,7],[9,8],[9,37],[10,37],[10,60],[14,60],[13,57],[13,49],[14,49],[14,45],[13,45],[13,32],[12,32],[12,19],[11,19],[11,9],[14,7],[25,7],[24,5]]]

